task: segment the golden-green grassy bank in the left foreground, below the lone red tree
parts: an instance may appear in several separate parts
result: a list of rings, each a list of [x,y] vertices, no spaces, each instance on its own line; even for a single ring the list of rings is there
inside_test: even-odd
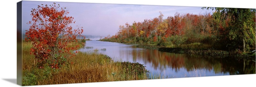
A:
[[[70,43],[69,46],[81,44]],[[45,85],[65,83],[89,83],[148,79],[148,71],[139,63],[114,62],[107,55],[78,52],[70,59],[71,64],[53,69],[35,66],[34,55],[30,55],[32,44],[23,42],[23,84]],[[80,46],[82,47],[82,46]]]

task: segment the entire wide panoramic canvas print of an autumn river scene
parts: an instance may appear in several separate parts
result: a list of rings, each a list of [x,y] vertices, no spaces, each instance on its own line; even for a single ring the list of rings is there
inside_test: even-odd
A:
[[[256,72],[255,8],[20,1],[17,12],[22,86]]]

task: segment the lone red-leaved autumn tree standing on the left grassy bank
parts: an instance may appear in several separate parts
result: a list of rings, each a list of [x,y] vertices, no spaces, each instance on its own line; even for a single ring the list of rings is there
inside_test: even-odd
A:
[[[79,45],[68,46],[68,43],[77,42],[76,36],[81,36],[83,27],[74,29],[71,24],[75,23],[72,16],[68,16],[66,7],[60,4],[41,4],[31,11],[31,26],[26,30],[26,41],[31,41],[33,47],[31,54],[35,55],[36,65],[44,68],[48,65],[52,68],[60,68],[67,64],[69,58],[75,54]],[[84,36],[83,36],[84,37]],[[84,37],[85,38],[85,37]]]

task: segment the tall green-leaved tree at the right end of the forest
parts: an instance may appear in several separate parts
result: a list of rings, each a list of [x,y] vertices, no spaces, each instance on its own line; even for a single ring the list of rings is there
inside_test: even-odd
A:
[[[203,7],[202,9],[205,9]],[[229,45],[232,49],[241,49],[245,52],[249,47],[255,48],[255,9],[245,8],[219,8],[207,7],[207,10],[216,10],[220,15],[214,15],[218,20],[229,20],[225,22],[228,27],[225,37],[230,41]],[[216,14],[217,14],[216,13]]]

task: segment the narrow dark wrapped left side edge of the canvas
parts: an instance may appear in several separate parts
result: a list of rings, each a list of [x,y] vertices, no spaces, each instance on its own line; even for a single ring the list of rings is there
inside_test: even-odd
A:
[[[22,85],[22,2],[17,3],[17,84]]]

